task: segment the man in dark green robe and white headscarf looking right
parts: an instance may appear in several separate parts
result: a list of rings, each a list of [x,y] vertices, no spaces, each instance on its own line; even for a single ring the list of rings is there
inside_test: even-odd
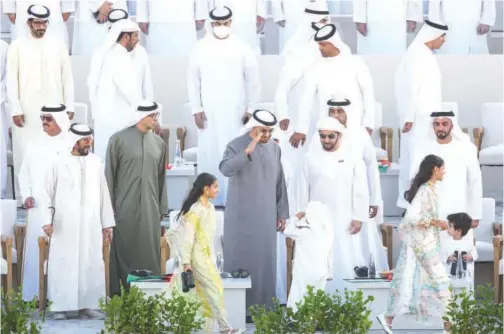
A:
[[[105,176],[116,227],[110,253],[110,291],[120,293],[135,269],[161,271],[161,220],[168,214],[166,144],[151,130],[158,106],[142,102],[127,127],[109,140]]]

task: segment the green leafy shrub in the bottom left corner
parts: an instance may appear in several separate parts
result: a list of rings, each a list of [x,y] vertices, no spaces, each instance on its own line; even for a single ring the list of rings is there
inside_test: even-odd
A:
[[[19,291],[22,291],[19,287]],[[38,334],[42,331],[45,322],[43,315],[40,321],[36,314],[38,311],[37,298],[27,302],[23,300],[21,292],[9,290],[2,294],[2,333]]]

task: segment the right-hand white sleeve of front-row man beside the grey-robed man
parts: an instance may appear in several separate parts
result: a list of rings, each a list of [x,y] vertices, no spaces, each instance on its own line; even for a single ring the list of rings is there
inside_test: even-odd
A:
[[[364,162],[356,161],[352,181],[352,220],[360,222],[369,221],[369,193],[366,179]]]

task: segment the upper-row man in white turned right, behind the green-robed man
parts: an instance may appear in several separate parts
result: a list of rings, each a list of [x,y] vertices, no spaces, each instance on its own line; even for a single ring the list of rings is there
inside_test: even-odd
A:
[[[120,20],[91,60],[89,101],[95,124],[94,152],[105,160],[109,138],[124,129],[142,100],[131,51],[138,43],[138,25]]]

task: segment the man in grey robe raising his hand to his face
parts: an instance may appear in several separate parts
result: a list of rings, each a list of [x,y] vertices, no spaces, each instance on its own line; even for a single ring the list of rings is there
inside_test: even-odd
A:
[[[276,123],[269,111],[255,111],[246,125],[248,132],[227,145],[219,165],[229,178],[224,269],[250,273],[247,308],[270,305],[275,296],[276,232],[283,231],[289,218],[280,147],[270,140]]]

